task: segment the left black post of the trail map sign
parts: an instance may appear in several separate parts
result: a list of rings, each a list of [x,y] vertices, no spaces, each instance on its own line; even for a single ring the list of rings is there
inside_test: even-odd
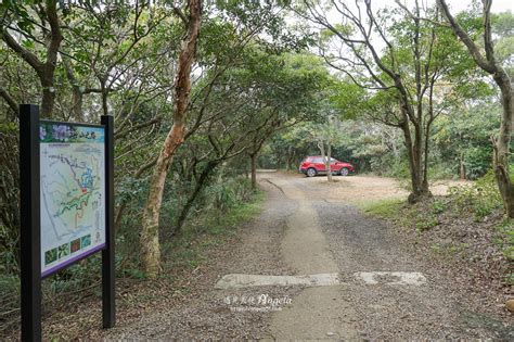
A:
[[[39,106],[20,105],[22,341],[41,341]]]

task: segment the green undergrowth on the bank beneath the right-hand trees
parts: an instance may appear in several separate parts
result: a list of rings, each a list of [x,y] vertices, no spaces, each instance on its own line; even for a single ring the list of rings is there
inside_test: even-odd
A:
[[[444,236],[448,235],[450,227],[458,236],[466,236],[470,231],[473,236],[473,229],[485,229],[491,237],[490,245],[496,245],[506,262],[514,266],[514,219],[503,217],[502,201],[492,172],[471,185],[450,187],[445,197],[434,197],[413,205],[404,200],[387,199],[364,203],[361,210],[403,229],[413,229],[420,239],[436,226],[440,226],[439,231]],[[445,257],[464,255],[470,248],[459,238],[444,240],[437,242],[435,238],[431,250]],[[473,262],[473,257],[468,262]],[[504,275],[504,283],[514,286],[514,271]]]

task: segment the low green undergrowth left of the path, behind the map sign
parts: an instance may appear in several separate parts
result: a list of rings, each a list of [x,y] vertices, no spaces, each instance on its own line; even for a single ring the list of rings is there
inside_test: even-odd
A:
[[[262,191],[252,190],[249,180],[244,177],[227,179],[205,191],[208,192],[208,201],[195,207],[180,233],[163,241],[162,278],[168,278],[167,275],[178,268],[197,267],[207,250],[224,243],[239,226],[260,212],[265,198]],[[140,220],[131,218],[131,221],[124,221],[125,226],[116,237],[117,287],[129,287],[145,278],[138,264],[137,227]],[[100,256],[97,253],[42,281],[47,313],[70,304],[76,306],[86,297],[101,295]],[[2,337],[18,326],[20,278],[16,274],[0,275],[0,340],[3,340]]]

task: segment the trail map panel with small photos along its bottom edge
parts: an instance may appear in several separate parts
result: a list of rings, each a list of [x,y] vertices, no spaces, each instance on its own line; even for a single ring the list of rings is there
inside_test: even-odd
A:
[[[104,128],[41,122],[41,273],[105,246]]]

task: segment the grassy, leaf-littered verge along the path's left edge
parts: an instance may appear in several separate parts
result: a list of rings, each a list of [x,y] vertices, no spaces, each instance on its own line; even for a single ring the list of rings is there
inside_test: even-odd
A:
[[[207,189],[213,199],[223,198],[223,206],[216,200],[204,202],[197,210],[194,219],[188,221],[182,233],[177,237],[163,238],[162,276],[155,281],[147,281],[139,265],[139,254],[133,249],[137,237],[128,231],[137,231],[138,225],[125,224],[126,231],[117,238],[119,249],[116,258],[118,311],[123,316],[130,316],[141,309],[162,306],[188,291],[184,279],[190,273],[201,267],[210,253],[217,248],[232,241],[239,229],[261,212],[265,193],[252,190],[249,179],[236,178],[222,186]],[[210,198],[210,197],[209,197]],[[166,203],[169,207],[169,203]],[[98,326],[101,319],[98,311],[100,292],[100,255],[94,255],[79,264],[73,265],[43,281],[44,319],[63,320],[66,326],[52,325],[47,328],[50,337],[57,340],[79,338],[83,331]],[[20,279],[15,276],[0,278],[0,300],[2,316],[0,335],[15,338],[20,324]],[[76,303],[69,307],[69,303]],[[74,313],[88,312],[90,315]],[[70,316],[72,315],[72,316]],[[80,316],[80,317],[79,317]],[[52,332],[53,331],[53,332]]]

